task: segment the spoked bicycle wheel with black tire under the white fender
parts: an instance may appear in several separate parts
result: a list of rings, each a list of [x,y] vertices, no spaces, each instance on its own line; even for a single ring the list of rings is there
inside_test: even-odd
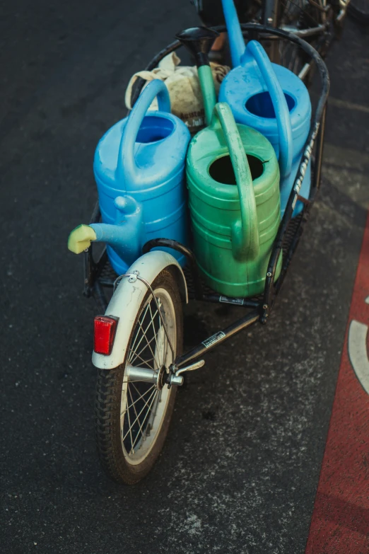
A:
[[[163,385],[163,371],[168,373],[182,350],[182,302],[175,275],[163,270],[152,289],[155,299],[151,292],[146,294],[137,306],[136,320],[122,321],[129,336],[124,362],[115,369],[98,369],[95,421],[100,461],[110,478],[128,485],[144,478],[158,458],[177,391],[176,386]],[[156,379],[143,379],[144,370]]]

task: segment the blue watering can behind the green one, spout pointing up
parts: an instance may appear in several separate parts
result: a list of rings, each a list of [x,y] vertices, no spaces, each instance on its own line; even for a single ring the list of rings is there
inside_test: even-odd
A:
[[[281,171],[283,215],[310,130],[310,96],[297,75],[271,64],[259,42],[250,40],[245,47],[233,0],[222,2],[235,69],[221,84],[219,102],[228,102],[236,122],[257,129],[273,145]],[[300,188],[302,197],[309,197],[310,183],[309,164]],[[297,202],[293,215],[302,208],[303,203]]]

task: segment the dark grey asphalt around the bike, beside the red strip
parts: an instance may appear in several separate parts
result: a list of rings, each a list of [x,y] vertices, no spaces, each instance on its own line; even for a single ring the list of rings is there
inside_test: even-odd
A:
[[[1,18],[1,553],[303,554],[368,207],[369,35],[327,58],[322,193],[266,328],[209,354],[153,472],[102,474],[93,301],[66,238],[129,76],[196,21],[186,0],[13,0]],[[237,308],[192,304],[187,346]]]

